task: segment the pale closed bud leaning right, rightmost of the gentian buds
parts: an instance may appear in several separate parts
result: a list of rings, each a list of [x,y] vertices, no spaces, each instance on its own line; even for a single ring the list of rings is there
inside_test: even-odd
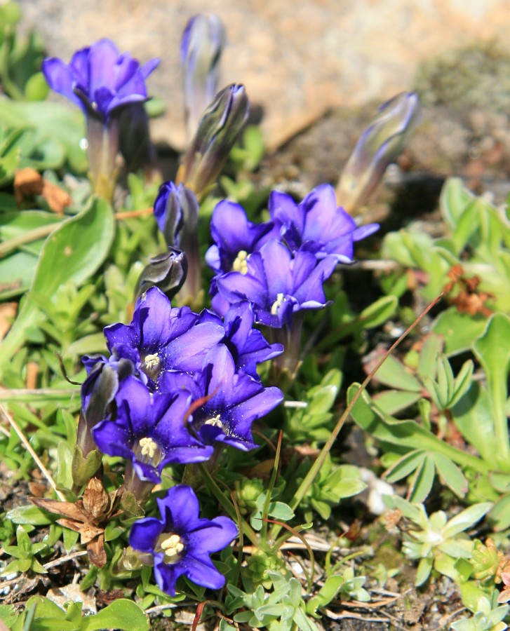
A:
[[[402,151],[420,121],[420,101],[415,92],[403,92],[381,105],[379,112],[358,140],[337,184],[337,201],[348,212],[368,200],[389,163]]]

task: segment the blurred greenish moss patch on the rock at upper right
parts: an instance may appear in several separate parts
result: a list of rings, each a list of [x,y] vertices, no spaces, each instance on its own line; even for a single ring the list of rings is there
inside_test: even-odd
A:
[[[510,50],[495,41],[448,50],[418,69],[415,89],[426,105],[506,113],[510,109]]]

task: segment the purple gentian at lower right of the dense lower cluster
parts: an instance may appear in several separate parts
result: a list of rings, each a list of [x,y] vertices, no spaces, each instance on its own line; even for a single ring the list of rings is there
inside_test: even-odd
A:
[[[236,373],[234,359],[224,344],[208,353],[194,381],[196,386],[189,386],[194,401],[203,400],[203,404],[198,408],[196,403],[192,406],[188,427],[204,445],[222,442],[243,451],[254,449],[253,421],[271,412],[283,400],[279,388],[264,388],[259,379]],[[170,373],[163,376],[162,388],[177,390],[177,384],[183,384],[182,376]]]

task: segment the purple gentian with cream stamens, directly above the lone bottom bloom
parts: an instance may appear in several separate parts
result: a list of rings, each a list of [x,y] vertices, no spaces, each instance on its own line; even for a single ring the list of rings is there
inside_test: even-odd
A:
[[[115,400],[115,419],[98,423],[93,437],[103,453],[130,460],[140,480],[156,484],[167,464],[202,462],[213,453],[186,428],[192,402],[188,391],[151,393],[141,381],[128,376]]]

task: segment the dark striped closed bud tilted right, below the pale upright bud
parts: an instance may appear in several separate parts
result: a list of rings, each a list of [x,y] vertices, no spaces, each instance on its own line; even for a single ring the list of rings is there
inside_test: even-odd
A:
[[[232,83],[216,95],[204,111],[192,144],[182,158],[177,184],[184,182],[198,198],[206,194],[246,123],[249,109],[246,90],[239,83]]]

